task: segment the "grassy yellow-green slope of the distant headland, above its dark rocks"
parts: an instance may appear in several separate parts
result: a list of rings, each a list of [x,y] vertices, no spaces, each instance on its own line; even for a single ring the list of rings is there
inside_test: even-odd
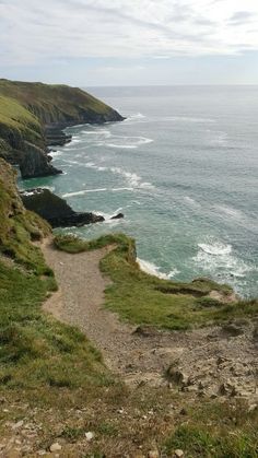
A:
[[[46,150],[45,125],[118,118],[108,105],[78,87],[0,79],[0,156],[12,164],[21,165],[26,142]]]

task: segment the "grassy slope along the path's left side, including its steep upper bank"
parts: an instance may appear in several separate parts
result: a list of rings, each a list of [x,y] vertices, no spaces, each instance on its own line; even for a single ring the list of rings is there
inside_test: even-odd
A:
[[[2,160],[0,214],[0,385],[32,388],[103,383],[106,369],[99,353],[80,331],[40,310],[57,284],[32,240],[49,234],[50,228],[24,210],[14,173]]]

